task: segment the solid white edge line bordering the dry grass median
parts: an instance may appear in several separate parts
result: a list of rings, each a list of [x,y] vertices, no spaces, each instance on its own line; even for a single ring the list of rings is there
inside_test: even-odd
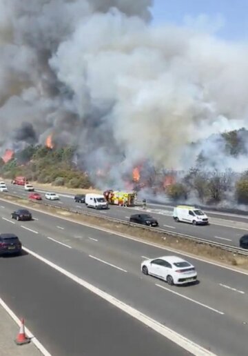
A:
[[[27,208],[27,206],[25,206],[24,204],[18,204],[17,205],[17,203],[14,203],[13,201],[9,201],[9,200],[3,199],[3,198],[0,198],[0,201],[6,201],[6,203],[8,203],[8,204],[12,204],[14,206],[23,206],[23,208]],[[205,264],[211,264],[212,266],[223,268],[225,270],[231,270],[234,273],[240,273],[241,275],[248,275],[248,272],[246,272],[245,270],[239,270],[239,269],[233,268],[231,266],[225,266],[224,264],[220,264],[218,262],[213,262],[213,261],[210,261],[209,259],[205,259],[203,257],[197,257],[196,255],[192,255],[191,253],[185,253],[185,252],[178,251],[175,248],[165,247],[163,245],[156,244],[155,242],[149,242],[149,241],[145,241],[145,240],[142,240],[142,239],[138,239],[137,237],[132,237],[130,235],[125,235],[125,234],[122,234],[122,233],[113,232],[112,230],[107,229],[107,228],[100,228],[99,226],[92,226],[92,225],[87,224],[85,222],[76,221],[74,219],[68,219],[68,218],[61,217],[61,216],[56,215],[56,214],[51,214],[50,212],[46,212],[46,211],[39,210],[39,209],[36,209],[36,208],[32,208],[32,210],[37,211],[37,212],[39,212],[39,213],[41,213],[43,215],[49,215],[50,217],[51,216],[52,217],[56,217],[56,219],[61,219],[63,221],[70,221],[73,224],[78,224],[78,225],[81,225],[81,226],[87,226],[87,228],[92,228],[94,230],[103,231],[104,233],[107,233],[107,234],[110,234],[110,235],[123,237],[124,239],[129,239],[129,240],[132,240],[132,241],[136,241],[139,244],[144,244],[144,245],[147,245],[147,246],[156,247],[156,248],[158,248],[160,250],[165,250],[165,251],[169,251],[169,252],[172,252],[172,253],[176,253],[177,255],[180,255],[180,256],[183,256],[183,257],[186,256],[186,257],[189,257],[189,258],[192,258],[192,259],[196,259],[196,261],[200,261],[200,262],[203,262]],[[192,237],[194,237],[194,236],[192,236]]]

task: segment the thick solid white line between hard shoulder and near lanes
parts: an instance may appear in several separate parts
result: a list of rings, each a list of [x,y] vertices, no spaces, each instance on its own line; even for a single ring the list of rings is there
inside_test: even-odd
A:
[[[134,319],[137,319],[138,321],[142,322],[143,324],[145,324],[149,328],[152,328],[157,333],[163,335],[167,339],[172,340],[172,342],[174,342],[175,344],[177,344],[180,347],[184,348],[189,353],[192,353],[193,355],[197,355],[197,356],[216,356],[214,353],[211,353],[209,350],[206,350],[202,346],[200,346],[198,344],[195,344],[194,342],[192,342],[191,340],[187,339],[183,335],[180,335],[180,334],[176,333],[176,331],[174,331],[174,330],[172,330],[170,328],[167,328],[167,326],[165,326],[165,325],[163,325],[163,324],[161,324],[159,322],[156,322],[156,320],[154,320],[154,319],[148,317],[147,315],[141,313],[141,311],[139,311],[137,309],[134,309],[134,308],[132,308],[132,306],[129,306],[129,305],[123,303],[123,301],[121,301],[119,299],[116,299],[115,297],[113,297],[112,295],[110,295],[110,294],[108,294],[106,292],[103,292],[103,290],[93,286],[92,284],[88,283],[87,281],[85,281],[85,280],[83,280],[83,279],[81,279],[79,277],[76,277],[76,275],[73,275],[68,270],[65,270],[65,269],[57,266],[52,261],[48,261],[48,259],[45,259],[41,255],[38,255],[37,253],[34,253],[32,250],[29,250],[28,248],[25,248],[25,247],[23,247],[23,250],[25,250],[30,255],[36,257],[37,259],[39,259],[43,263],[48,264],[48,266],[50,266],[50,267],[54,268],[55,270],[59,271],[60,273],[62,273],[66,277],[72,279],[77,284],[80,284],[84,288],[87,288],[92,293],[94,293],[94,294],[98,295],[99,297],[105,299],[110,304],[116,306],[116,308],[119,308],[119,309],[123,310],[125,313],[127,313],[128,315],[131,315],[132,317],[134,317]]]

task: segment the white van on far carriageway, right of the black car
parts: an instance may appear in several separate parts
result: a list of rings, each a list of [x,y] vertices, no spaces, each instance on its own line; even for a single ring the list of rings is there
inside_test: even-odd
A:
[[[173,211],[175,221],[187,222],[193,225],[207,225],[209,220],[205,212],[194,206],[176,206]]]

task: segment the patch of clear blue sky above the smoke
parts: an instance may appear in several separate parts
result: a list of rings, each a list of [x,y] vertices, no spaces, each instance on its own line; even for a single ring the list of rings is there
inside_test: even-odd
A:
[[[186,24],[228,41],[248,40],[248,0],[154,0],[152,13],[154,26]]]

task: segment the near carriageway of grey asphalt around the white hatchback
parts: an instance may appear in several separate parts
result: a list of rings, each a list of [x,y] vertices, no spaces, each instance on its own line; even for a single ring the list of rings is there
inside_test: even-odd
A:
[[[165,248],[32,209],[34,221],[12,221],[17,207],[0,204],[1,231],[19,235],[26,248],[216,355],[247,355],[245,273],[185,257],[196,266],[199,283],[171,287],[140,271],[143,259],[172,254]],[[53,355],[165,355],[165,350],[187,355],[32,255],[0,259],[0,293],[17,315],[24,311],[32,332]]]

